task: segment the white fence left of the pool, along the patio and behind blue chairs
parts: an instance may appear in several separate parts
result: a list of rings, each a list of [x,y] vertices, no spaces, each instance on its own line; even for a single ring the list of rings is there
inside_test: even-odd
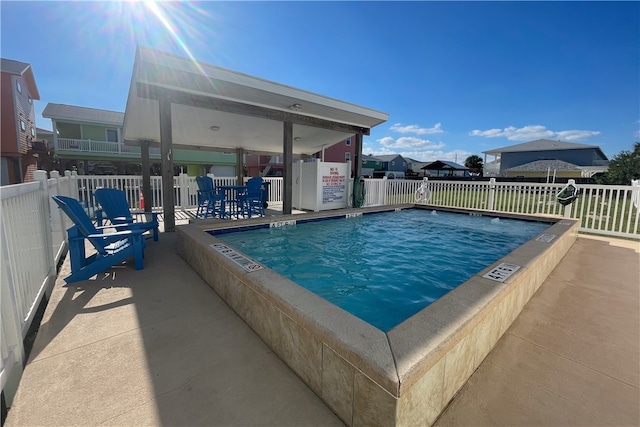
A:
[[[36,181],[0,187],[2,211],[0,381],[7,404],[11,405],[25,363],[24,338],[45,294],[56,277],[56,266],[66,253],[66,229],[70,220],[51,198],[66,195],[78,199],[91,217],[99,208],[94,191],[118,188],[125,192],[132,210],[142,210],[150,203],[153,211],[162,211],[162,178],[151,177],[151,200],[142,198],[141,176],[79,176],[57,171],[47,179],[45,171],[35,173]],[[213,177],[216,185],[235,185],[236,177]],[[248,179],[248,178],[247,178]],[[265,178],[270,182],[269,201],[282,201],[282,178]],[[180,210],[197,207],[195,177],[174,177],[174,200]]]

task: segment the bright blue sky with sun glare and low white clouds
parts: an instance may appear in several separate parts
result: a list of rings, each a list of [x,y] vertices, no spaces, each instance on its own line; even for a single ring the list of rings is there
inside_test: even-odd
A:
[[[154,9],[160,11],[154,13]],[[123,112],[138,44],[389,114],[364,153],[640,140],[640,2],[11,2],[41,100]]]

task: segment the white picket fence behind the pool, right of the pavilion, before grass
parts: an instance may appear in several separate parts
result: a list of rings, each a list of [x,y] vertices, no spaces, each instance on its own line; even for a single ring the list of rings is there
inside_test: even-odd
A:
[[[580,219],[580,231],[640,238],[640,183],[576,184],[579,197],[562,206],[556,194],[566,184],[530,182],[414,181],[365,179],[365,206],[420,203],[494,213]]]

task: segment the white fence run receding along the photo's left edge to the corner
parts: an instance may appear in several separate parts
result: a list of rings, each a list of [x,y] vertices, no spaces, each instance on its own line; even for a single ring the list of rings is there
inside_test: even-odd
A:
[[[58,209],[52,209],[50,195],[77,196],[70,174],[60,178],[54,172],[47,179],[46,172],[37,171],[35,179],[0,187],[0,382],[7,404],[22,376],[24,338],[42,298],[55,283],[56,266],[66,251],[67,224]]]

